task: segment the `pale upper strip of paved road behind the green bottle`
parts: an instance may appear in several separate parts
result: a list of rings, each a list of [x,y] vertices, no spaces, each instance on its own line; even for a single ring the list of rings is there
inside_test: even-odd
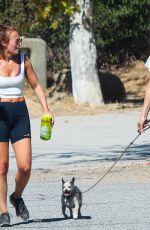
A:
[[[115,160],[137,135],[138,118],[138,112],[56,117],[51,141],[40,140],[40,120],[32,119],[33,169],[106,164]],[[149,158],[149,133],[139,137],[124,160]],[[11,161],[15,162],[11,149],[10,152]],[[10,167],[13,169],[14,164]]]

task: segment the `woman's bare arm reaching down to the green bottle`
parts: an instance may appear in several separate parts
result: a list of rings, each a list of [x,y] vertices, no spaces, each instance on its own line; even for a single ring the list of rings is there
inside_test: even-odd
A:
[[[48,108],[44,90],[43,90],[42,86],[40,85],[40,83],[37,79],[36,73],[33,70],[32,63],[27,56],[25,56],[25,75],[26,75],[26,78],[27,78],[29,84],[31,85],[33,91],[35,92],[35,94],[36,94],[36,96],[37,96],[37,98],[38,98],[38,100],[39,100],[39,102],[43,108],[44,113],[49,113],[52,115],[52,125],[53,125],[54,124],[53,113]]]

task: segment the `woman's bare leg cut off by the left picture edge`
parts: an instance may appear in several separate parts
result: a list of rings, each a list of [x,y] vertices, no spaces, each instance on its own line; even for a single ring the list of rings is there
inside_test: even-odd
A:
[[[0,212],[7,210],[7,172],[9,166],[9,142],[0,142]]]

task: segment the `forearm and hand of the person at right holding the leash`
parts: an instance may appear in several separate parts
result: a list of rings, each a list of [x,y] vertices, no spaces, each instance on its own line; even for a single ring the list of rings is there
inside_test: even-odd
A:
[[[145,91],[144,104],[142,107],[140,120],[137,124],[137,127],[138,129],[140,129],[140,131],[143,131],[143,128],[145,127],[145,121],[147,119],[149,110],[150,110],[150,79],[149,79],[149,82],[148,82],[148,85]]]

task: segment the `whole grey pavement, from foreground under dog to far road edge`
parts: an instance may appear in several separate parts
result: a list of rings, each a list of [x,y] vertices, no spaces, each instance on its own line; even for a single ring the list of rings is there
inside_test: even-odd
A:
[[[19,221],[10,205],[12,229],[149,229],[149,181],[104,180],[84,194],[83,217],[77,221],[64,220],[60,205],[61,178],[75,175],[81,190],[93,185],[99,178],[98,169],[103,173],[137,135],[138,118],[138,112],[56,117],[48,142],[39,138],[40,120],[31,119],[33,173],[24,193],[31,218]],[[119,164],[139,164],[140,168],[149,161],[149,138],[150,131],[141,135]],[[9,193],[14,188],[15,169],[10,148]]]

